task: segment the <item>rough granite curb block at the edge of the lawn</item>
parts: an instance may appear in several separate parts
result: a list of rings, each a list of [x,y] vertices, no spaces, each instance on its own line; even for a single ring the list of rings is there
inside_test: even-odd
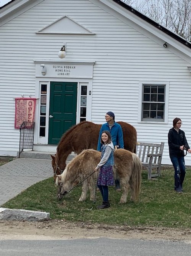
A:
[[[45,221],[50,220],[50,213],[0,207],[0,220]]]

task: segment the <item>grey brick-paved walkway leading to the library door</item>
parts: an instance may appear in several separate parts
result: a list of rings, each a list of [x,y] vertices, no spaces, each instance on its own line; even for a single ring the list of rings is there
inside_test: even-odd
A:
[[[0,206],[31,185],[52,176],[51,160],[18,158],[0,166]]]

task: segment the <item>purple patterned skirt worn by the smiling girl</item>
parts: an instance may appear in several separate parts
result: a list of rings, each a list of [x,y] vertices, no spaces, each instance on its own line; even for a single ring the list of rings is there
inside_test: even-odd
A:
[[[99,170],[97,185],[113,186],[113,168],[112,166],[102,166]]]

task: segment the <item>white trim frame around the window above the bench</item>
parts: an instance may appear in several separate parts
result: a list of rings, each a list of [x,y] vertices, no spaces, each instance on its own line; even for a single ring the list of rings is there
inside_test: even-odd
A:
[[[141,113],[142,113],[142,88],[143,84],[148,85],[165,85],[165,119],[164,122],[161,121],[142,121]],[[139,104],[138,104],[138,123],[150,123],[150,124],[167,124],[168,123],[168,101],[169,101],[169,82],[167,81],[141,81],[139,83]]]

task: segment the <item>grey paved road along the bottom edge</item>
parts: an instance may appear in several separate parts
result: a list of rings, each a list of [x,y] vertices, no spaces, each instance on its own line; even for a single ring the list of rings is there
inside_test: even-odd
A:
[[[2,240],[3,256],[190,256],[191,244],[136,239]]]

